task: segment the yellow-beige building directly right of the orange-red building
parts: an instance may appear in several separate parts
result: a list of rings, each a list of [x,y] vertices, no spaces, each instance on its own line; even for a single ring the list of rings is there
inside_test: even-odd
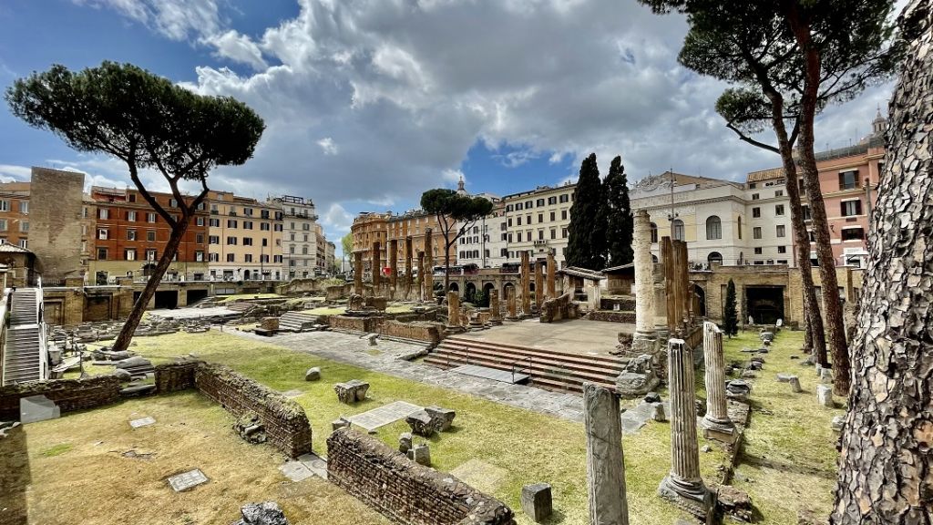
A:
[[[231,192],[210,192],[208,267],[212,279],[281,279],[282,207]]]

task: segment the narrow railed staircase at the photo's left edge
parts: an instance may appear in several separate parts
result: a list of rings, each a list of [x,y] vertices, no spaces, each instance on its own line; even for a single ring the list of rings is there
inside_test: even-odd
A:
[[[44,379],[46,352],[38,319],[36,289],[14,291],[10,301],[7,344],[4,348],[3,384]]]

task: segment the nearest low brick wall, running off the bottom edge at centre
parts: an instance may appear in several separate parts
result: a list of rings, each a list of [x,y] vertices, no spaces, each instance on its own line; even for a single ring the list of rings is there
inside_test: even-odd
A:
[[[512,510],[502,502],[346,428],[327,438],[327,479],[407,525],[515,523]]]

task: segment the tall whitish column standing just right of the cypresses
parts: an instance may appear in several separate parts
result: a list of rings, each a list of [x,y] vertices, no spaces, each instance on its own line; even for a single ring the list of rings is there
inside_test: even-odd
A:
[[[634,218],[635,265],[635,333],[634,349],[654,349],[657,333],[654,330],[654,261],[651,259],[651,219],[641,209]]]

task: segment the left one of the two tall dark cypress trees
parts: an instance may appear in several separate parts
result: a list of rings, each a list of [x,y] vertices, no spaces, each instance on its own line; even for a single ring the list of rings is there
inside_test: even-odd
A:
[[[606,267],[606,197],[599,178],[596,154],[580,164],[574,204],[570,206],[570,226],[567,228],[568,266],[591,270]]]

